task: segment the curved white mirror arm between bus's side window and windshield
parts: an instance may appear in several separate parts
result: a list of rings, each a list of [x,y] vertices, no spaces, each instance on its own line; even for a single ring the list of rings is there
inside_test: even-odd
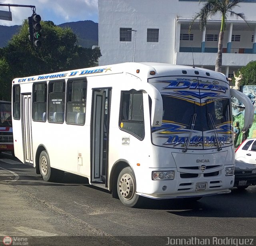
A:
[[[145,84],[145,88],[142,91],[146,91],[152,100],[151,126],[162,126],[163,100],[160,92],[149,83]]]

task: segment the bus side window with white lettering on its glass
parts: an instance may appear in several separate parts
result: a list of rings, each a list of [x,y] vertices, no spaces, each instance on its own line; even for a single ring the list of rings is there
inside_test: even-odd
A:
[[[48,87],[48,121],[63,123],[65,112],[65,81],[50,82]]]

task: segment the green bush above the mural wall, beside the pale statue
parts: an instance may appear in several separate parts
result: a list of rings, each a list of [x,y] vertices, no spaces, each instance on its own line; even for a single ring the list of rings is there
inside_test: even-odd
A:
[[[240,85],[256,85],[256,61],[250,61],[246,66],[241,67],[236,75],[239,75],[239,72],[242,73],[243,78]],[[232,79],[232,82],[235,83],[235,79]]]

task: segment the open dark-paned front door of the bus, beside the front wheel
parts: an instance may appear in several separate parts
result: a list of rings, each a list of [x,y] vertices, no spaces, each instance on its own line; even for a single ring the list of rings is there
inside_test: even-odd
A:
[[[111,89],[92,90],[91,181],[107,187],[108,130]]]

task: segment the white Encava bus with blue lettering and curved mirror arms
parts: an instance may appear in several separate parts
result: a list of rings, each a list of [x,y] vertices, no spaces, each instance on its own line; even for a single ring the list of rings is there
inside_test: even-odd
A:
[[[45,181],[64,171],[135,207],[141,196],[229,193],[234,184],[230,93],[214,71],[164,63],[121,63],[16,78],[15,155]]]

